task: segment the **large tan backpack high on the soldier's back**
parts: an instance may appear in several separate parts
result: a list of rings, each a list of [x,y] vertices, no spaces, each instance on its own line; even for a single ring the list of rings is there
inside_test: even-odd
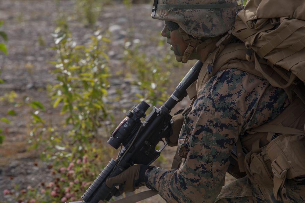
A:
[[[305,82],[304,33],[303,0],[248,0],[232,29],[232,34],[246,44],[247,60],[255,61],[255,68],[271,85],[281,88],[295,88],[299,80]]]

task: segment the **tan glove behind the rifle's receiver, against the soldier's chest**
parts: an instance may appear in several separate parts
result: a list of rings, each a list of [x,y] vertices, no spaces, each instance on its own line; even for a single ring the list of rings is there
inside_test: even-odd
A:
[[[172,121],[173,121],[171,128],[172,135],[170,135],[169,141],[167,141],[167,145],[170,147],[174,147],[178,145],[178,138],[184,122],[184,117],[182,116],[182,114],[177,114],[173,116]]]

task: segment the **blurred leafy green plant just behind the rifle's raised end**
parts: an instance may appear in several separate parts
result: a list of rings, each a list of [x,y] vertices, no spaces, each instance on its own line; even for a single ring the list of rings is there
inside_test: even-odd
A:
[[[159,44],[163,46],[161,42]],[[175,77],[174,69],[180,67],[181,64],[175,60],[171,52],[164,53],[163,57],[147,56],[139,48],[139,44],[134,48],[127,45],[123,58],[126,69],[136,75],[135,83],[141,90],[136,94],[138,100],[135,102],[145,100],[151,106],[160,105],[167,100],[170,78]]]

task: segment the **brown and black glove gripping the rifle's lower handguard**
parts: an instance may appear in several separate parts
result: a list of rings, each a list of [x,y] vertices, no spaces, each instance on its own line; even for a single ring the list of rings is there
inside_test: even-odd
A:
[[[119,190],[114,194],[116,197],[123,194],[123,192],[135,191],[145,185],[145,172],[148,168],[149,166],[142,164],[130,166],[119,175],[106,180],[106,185],[109,188],[119,186]]]

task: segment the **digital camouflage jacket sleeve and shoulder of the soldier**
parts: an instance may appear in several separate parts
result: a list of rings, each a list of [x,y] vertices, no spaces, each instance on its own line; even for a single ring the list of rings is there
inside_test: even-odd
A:
[[[283,89],[230,68],[218,72],[184,112],[178,142],[179,169],[154,169],[151,185],[167,202],[213,202],[220,193],[232,146],[247,129],[274,119],[289,105]]]

